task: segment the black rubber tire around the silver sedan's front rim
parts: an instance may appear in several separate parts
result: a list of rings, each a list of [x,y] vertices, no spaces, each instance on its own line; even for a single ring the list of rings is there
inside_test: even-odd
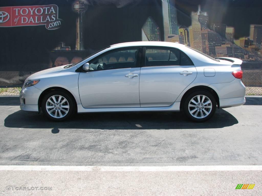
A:
[[[48,112],[47,112],[47,109],[46,109],[46,102],[47,102],[47,100],[50,98],[50,97],[52,97],[52,96],[54,96],[54,95],[60,95],[60,96],[62,96],[62,97],[64,97],[66,100],[67,100],[67,102],[66,102],[66,105],[69,105],[69,108],[62,108],[62,109],[64,109],[64,110],[66,110],[67,111],[67,113],[65,113],[65,112],[63,112],[62,111],[62,109],[61,109],[61,113],[62,113],[62,117],[59,117],[59,114],[57,114],[57,116],[59,117],[59,118],[55,118],[55,117],[53,117],[53,116],[51,116],[54,112],[55,112],[55,110],[54,110],[54,112],[52,112],[52,114],[50,115]],[[58,96],[55,96],[55,98],[56,98],[56,100],[58,99]],[[63,98],[62,98],[63,99]],[[61,100],[62,100],[61,99]],[[54,102],[54,101],[53,101]],[[50,103],[49,103],[50,104]],[[56,103],[55,103],[56,104]],[[65,103],[63,103],[63,104],[65,104]],[[63,106],[63,104],[62,104],[62,106]],[[52,104],[51,104],[52,105]],[[64,91],[60,91],[60,90],[53,90],[53,91],[51,91],[51,92],[49,92],[49,93],[47,93],[44,97],[43,97],[43,99],[42,99],[42,104],[41,104],[41,107],[42,107],[42,111],[43,111],[43,114],[48,118],[48,119],[50,119],[50,120],[52,120],[52,121],[56,121],[56,122],[61,122],[61,121],[64,121],[64,120],[67,120],[68,118],[70,118],[70,117],[72,117],[72,115],[75,113],[75,111],[76,111],[76,108],[75,108],[75,104],[74,104],[74,101],[73,101],[73,97],[71,96],[71,95],[68,95],[68,93],[65,93]],[[59,105],[57,106],[57,107],[59,107]],[[56,108],[56,110],[58,110],[59,108]],[[51,110],[51,109],[49,109],[49,110]],[[59,109],[60,110],[60,109]],[[58,113],[58,112],[57,112]],[[65,115],[65,116],[63,116],[63,115]]]

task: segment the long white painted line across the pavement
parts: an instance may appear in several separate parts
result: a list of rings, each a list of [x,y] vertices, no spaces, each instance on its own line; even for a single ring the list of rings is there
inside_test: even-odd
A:
[[[45,166],[0,165],[0,170],[13,171],[250,171],[262,170],[262,165],[203,166]]]

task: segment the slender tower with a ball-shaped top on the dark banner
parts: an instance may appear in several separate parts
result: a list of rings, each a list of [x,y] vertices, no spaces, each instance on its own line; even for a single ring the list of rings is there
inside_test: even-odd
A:
[[[76,42],[75,50],[84,50],[83,39],[83,15],[87,9],[87,2],[85,0],[76,0],[73,3],[73,11],[78,14],[76,21]]]

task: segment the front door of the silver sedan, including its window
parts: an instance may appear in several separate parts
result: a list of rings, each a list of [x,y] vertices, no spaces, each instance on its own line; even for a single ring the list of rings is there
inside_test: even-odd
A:
[[[139,48],[118,49],[91,60],[79,74],[80,100],[85,108],[140,107]]]

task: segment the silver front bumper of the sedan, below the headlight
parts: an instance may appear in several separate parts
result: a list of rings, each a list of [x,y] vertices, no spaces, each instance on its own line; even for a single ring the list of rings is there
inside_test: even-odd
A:
[[[41,93],[42,91],[34,86],[23,88],[20,92],[20,109],[39,112],[38,99]]]

